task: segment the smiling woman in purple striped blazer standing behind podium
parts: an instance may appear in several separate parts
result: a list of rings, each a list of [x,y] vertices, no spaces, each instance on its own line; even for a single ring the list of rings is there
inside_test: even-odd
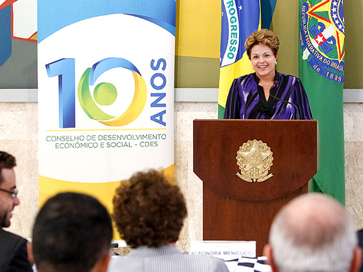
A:
[[[224,119],[312,119],[301,80],[275,70],[279,41],[268,29],[245,42],[254,73],[234,79]]]

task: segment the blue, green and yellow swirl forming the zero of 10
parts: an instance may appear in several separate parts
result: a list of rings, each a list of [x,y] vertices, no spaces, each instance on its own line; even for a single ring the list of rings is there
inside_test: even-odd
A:
[[[90,87],[97,78],[112,68],[126,68],[132,72],[135,82],[135,92],[130,106],[120,116],[112,116],[103,112],[98,106],[109,106],[117,98],[116,87],[108,82],[98,83],[91,96]],[[138,69],[129,61],[122,58],[107,58],[95,63],[92,68],[87,68],[78,85],[78,99],[82,109],[93,120],[106,126],[121,127],[133,122],[143,111],[147,98],[145,80]]]

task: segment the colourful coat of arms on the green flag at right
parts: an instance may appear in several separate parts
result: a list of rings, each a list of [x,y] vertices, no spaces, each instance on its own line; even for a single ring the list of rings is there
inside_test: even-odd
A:
[[[343,0],[308,0],[300,8],[302,59],[320,75],[344,83]]]

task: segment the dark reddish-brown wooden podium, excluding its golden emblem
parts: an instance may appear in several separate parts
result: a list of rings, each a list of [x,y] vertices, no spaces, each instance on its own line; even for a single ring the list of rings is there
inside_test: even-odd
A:
[[[237,176],[237,151],[261,140],[273,153],[264,182]],[[193,171],[203,181],[203,240],[269,240],[281,206],[308,192],[317,171],[316,120],[194,120]]]

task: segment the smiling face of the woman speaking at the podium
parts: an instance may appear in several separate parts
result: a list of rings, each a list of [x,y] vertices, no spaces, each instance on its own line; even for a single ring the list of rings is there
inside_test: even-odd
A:
[[[259,78],[274,77],[276,57],[273,55],[271,48],[267,45],[257,44],[252,47],[252,67]]]

